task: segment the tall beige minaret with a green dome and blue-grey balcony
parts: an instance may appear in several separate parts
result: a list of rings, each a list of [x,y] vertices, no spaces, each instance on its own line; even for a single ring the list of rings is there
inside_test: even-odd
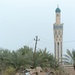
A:
[[[55,58],[62,63],[62,41],[63,41],[63,24],[60,22],[61,10],[59,7],[55,10],[56,23],[53,25],[54,30],[54,53]]]

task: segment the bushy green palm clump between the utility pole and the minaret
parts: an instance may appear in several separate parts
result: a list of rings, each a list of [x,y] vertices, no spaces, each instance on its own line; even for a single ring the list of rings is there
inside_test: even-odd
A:
[[[31,62],[33,62],[31,66],[33,66],[34,68],[40,66],[42,68],[57,69],[59,67],[59,64],[57,63],[53,55],[46,50],[40,49],[36,51],[35,57],[33,56],[33,54],[29,54],[29,56],[32,55],[29,58],[31,58],[30,60]]]

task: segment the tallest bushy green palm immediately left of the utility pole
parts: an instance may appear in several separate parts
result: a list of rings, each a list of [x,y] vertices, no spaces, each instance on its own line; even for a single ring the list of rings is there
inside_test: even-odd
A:
[[[17,53],[20,54],[21,64],[26,68],[30,68],[32,64],[33,49],[24,46],[23,48],[20,48]]]

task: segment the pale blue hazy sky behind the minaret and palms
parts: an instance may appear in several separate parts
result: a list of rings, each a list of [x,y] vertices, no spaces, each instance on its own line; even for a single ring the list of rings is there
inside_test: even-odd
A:
[[[0,47],[17,50],[24,45],[54,52],[53,24],[59,4],[63,30],[63,51],[75,49],[75,0],[0,0]]]

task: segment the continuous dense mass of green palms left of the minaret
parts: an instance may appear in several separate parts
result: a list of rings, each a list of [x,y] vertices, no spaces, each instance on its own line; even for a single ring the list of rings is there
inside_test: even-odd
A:
[[[13,73],[14,69],[17,71],[31,67],[36,68],[37,66],[56,70],[59,64],[53,55],[46,50],[40,49],[34,53],[34,50],[27,46],[16,51],[0,49],[0,72],[4,71],[6,75],[9,75],[7,73],[10,70]]]

